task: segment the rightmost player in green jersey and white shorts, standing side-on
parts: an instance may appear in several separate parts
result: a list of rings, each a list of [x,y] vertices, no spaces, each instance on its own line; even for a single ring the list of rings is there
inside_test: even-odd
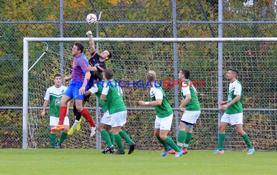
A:
[[[219,147],[213,154],[224,154],[223,146],[225,140],[225,128],[230,123],[236,126],[237,133],[239,133],[247,146],[249,147],[247,154],[255,152],[248,135],[242,128],[242,84],[237,80],[238,70],[228,69],[226,73],[227,80],[230,81],[228,99],[225,102],[220,102],[222,110],[225,110],[219,124]]]

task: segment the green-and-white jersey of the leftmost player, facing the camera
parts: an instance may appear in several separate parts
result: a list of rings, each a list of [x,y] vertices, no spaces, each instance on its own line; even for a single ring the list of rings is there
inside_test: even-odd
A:
[[[50,102],[50,116],[59,117],[60,114],[60,100],[65,93],[67,87],[61,85],[60,88],[52,86],[46,90],[44,100]]]

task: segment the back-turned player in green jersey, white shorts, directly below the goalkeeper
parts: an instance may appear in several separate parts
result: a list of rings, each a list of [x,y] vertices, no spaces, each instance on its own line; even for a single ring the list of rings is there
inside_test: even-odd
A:
[[[118,151],[113,154],[125,154],[122,146],[121,138],[129,144],[128,154],[132,154],[136,144],[130,139],[125,131],[121,130],[121,126],[126,123],[127,108],[123,102],[122,90],[120,85],[113,80],[113,70],[107,69],[104,72],[104,88],[102,90],[101,100],[105,101],[111,115],[111,126],[114,139],[118,146]]]

